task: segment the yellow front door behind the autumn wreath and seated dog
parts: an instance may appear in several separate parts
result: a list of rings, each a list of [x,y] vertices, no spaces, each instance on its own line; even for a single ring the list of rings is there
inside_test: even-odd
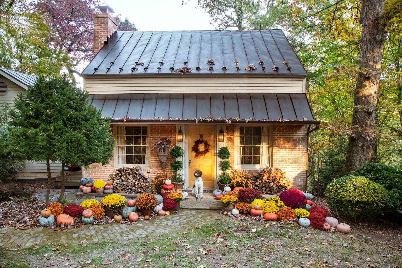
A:
[[[215,177],[215,127],[214,126],[189,126],[189,187],[194,185],[194,172],[199,169],[202,171],[202,179],[204,187],[214,187]],[[200,139],[209,143],[209,153],[196,156],[193,146]],[[199,151],[204,150],[204,144],[198,146]]]

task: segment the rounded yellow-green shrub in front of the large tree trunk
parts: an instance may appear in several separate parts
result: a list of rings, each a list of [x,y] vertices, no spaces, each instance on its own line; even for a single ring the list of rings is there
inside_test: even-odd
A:
[[[366,177],[347,175],[337,179],[328,184],[325,194],[332,212],[355,223],[389,209],[389,192]]]

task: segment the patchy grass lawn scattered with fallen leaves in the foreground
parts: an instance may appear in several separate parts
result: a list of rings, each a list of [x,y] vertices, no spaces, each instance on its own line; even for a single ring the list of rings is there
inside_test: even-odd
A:
[[[123,235],[122,235],[123,236]],[[400,237],[372,239],[250,217],[128,241],[0,249],[0,267],[402,267]]]

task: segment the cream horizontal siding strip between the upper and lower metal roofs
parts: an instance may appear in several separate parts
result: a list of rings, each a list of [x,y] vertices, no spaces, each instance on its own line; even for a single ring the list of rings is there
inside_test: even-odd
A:
[[[124,93],[304,93],[304,77],[135,75],[84,76],[90,94]]]

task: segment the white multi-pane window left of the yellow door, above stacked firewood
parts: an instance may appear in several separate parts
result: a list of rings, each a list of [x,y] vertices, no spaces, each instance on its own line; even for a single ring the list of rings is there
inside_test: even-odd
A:
[[[149,164],[150,146],[148,127],[117,127],[117,163]]]

